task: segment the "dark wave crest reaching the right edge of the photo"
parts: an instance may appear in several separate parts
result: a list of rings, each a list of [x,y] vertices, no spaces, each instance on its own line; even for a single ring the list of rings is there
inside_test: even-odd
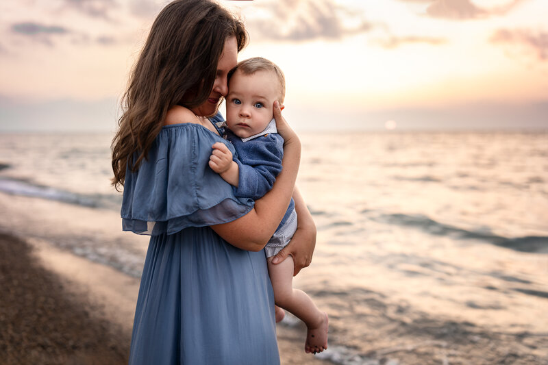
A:
[[[375,221],[403,225],[408,227],[417,227],[429,234],[436,236],[451,236],[460,240],[482,240],[500,247],[506,247],[515,251],[548,253],[548,237],[546,236],[524,236],[508,238],[496,234],[486,233],[485,231],[473,231],[446,225],[434,221],[423,214],[381,214],[374,218]]]

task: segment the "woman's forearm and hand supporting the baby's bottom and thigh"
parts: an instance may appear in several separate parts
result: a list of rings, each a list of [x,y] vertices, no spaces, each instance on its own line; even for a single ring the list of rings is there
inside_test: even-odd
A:
[[[295,262],[293,275],[297,275],[301,268],[306,268],[312,262],[312,253],[316,247],[316,224],[297,186],[293,192],[293,200],[297,212],[297,231],[289,244],[274,256],[272,263],[279,264],[291,255]]]

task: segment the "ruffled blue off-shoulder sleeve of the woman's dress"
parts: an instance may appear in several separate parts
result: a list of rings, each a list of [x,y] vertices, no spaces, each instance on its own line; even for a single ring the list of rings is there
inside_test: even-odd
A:
[[[122,201],[124,231],[175,234],[187,227],[234,221],[254,201],[234,190],[208,165],[212,144],[231,143],[193,123],[167,125],[153,142],[138,171],[127,168]]]

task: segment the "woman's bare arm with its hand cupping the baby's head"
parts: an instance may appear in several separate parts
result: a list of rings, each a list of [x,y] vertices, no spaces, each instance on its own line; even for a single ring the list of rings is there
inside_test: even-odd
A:
[[[277,102],[273,111],[278,133],[285,140],[282,172],[272,190],[256,200],[249,213],[236,221],[211,226],[225,241],[247,251],[260,251],[269,242],[289,206],[299,171],[301,141],[282,116]]]

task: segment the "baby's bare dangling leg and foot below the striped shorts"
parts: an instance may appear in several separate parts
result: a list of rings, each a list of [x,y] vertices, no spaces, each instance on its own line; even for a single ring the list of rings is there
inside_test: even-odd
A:
[[[276,305],[297,316],[308,327],[305,343],[307,353],[327,349],[327,314],[321,312],[305,292],[293,289],[293,257],[288,256],[279,264],[272,264],[272,259],[269,257],[269,274]]]

